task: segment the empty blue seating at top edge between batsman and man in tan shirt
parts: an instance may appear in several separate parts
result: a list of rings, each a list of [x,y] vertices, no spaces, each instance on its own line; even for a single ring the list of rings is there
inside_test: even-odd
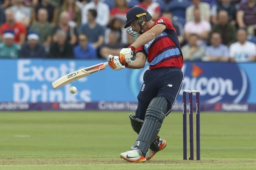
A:
[[[173,16],[181,16],[185,18],[186,8],[191,5],[188,0],[172,0],[168,3],[169,11]]]

